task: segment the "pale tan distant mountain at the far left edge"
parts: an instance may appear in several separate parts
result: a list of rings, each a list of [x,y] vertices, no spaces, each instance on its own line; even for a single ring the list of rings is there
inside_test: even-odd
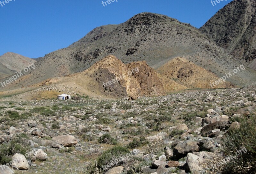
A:
[[[5,53],[0,56],[0,78],[8,77],[28,67],[36,61],[16,53]]]

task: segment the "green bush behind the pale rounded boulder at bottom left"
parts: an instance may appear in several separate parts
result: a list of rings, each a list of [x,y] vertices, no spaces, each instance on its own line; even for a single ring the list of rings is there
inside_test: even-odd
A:
[[[2,165],[9,163],[12,161],[14,154],[20,153],[25,156],[30,150],[30,143],[26,139],[17,136],[7,144],[0,144],[0,163]]]

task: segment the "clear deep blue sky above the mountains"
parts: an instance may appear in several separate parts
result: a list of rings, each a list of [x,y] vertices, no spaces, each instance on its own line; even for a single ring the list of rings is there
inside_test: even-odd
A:
[[[141,12],[164,14],[200,28],[231,1],[213,6],[211,0],[117,0],[104,7],[102,0],[12,0],[0,4],[0,55],[42,57],[97,26],[120,24]]]

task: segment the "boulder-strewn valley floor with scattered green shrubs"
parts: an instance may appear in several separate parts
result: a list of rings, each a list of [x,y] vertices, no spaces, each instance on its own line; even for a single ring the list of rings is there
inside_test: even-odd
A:
[[[133,101],[84,97],[17,102],[6,98],[0,103],[0,151],[3,144],[10,145],[10,139],[20,136],[30,140],[30,150],[42,149],[47,154],[47,159],[28,156],[30,169],[15,170],[17,174],[104,173],[110,168],[114,169],[107,173],[215,173],[220,168],[213,170],[206,156],[223,159],[221,138],[237,120],[236,116],[255,115],[255,95],[256,87],[249,86],[140,97]],[[229,125],[203,134],[205,126],[218,121],[229,121]],[[60,135],[68,136],[56,140]],[[70,140],[72,136],[75,140]],[[64,147],[67,144],[72,146]],[[106,154],[109,149],[115,154],[115,147],[120,146],[124,148],[117,150],[120,156]],[[119,158],[134,149],[136,153],[129,158]],[[190,165],[190,154],[203,161]],[[14,154],[8,157],[11,155]],[[0,155],[2,164],[3,156]],[[112,160],[116,163],[108,165]],[[177,165],[173,161],[178,161]],[[105,165],[107,168],[102,167]]]

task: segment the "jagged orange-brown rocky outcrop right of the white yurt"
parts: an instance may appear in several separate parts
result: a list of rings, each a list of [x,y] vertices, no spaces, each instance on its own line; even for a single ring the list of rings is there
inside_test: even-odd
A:
[[[98,89],[105,96],[137,98],[165,94],[162,80],[145,61],[125,65],[115,56],[109,55],[85,73],[98,82]]]

